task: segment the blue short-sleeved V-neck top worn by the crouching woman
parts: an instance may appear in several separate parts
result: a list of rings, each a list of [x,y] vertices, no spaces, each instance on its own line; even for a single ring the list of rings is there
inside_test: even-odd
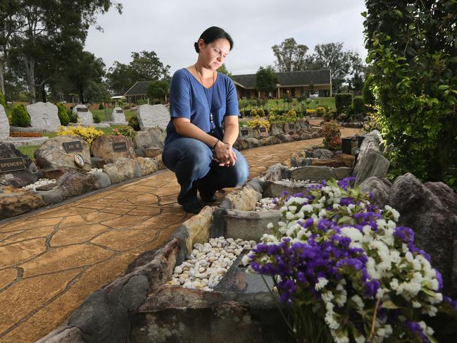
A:
[[[213,113],[215,125],[213,133],[210,113]],[[222,140],[225,116],[239,116],[237,90],[232,79],[218,73],[213,87],[207,89],[187,68],[177,70],[170,84],[170,116],[165,144],[180,137],[173,125],[173,118],[187,118],[204,132]]]

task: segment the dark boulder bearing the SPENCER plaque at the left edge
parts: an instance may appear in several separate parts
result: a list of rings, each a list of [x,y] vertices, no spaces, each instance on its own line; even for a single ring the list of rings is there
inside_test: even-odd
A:
[[[38,180],[37,176],[29,170],[32,161],[30,158],[21,153],[11,143],[0,142],[0,158],[23,158],[25,169],[15,170],[6,173],[0,173],[0,185],[12,186],[16,188],[30,185]]]

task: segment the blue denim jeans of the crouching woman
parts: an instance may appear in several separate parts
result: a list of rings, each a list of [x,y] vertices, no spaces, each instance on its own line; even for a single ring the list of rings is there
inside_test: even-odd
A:
[[[176,174],[181,192],[179,204],[196,202],[196,191],[212,195],[218,189],[243,185],[249,176],[246,158],[233,149],[237,155],[234,166],[220,167],[213,161],[213,151],[198,139],[179,137],[163,148],[162,161]]]

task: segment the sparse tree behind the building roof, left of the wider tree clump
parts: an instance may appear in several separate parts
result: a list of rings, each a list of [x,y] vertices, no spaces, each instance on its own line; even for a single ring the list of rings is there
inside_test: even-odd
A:
[[[273,45],[275,54],[275,66],[280,72],[301,71],[306,69],[306,51],[308,46],[296,44],[294,38],[284,39],[280,45]]]

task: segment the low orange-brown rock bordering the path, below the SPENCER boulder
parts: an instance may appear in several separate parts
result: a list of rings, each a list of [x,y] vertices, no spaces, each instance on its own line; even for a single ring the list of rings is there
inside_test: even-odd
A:
[[[32,191],[0,193],[0,219],[18,216],[46,206],[43,198]]]

